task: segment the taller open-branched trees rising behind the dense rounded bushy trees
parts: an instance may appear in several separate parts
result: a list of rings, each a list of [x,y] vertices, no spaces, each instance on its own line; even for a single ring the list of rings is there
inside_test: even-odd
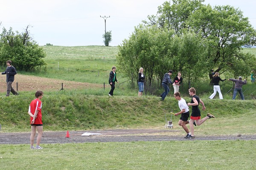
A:
[[[207,65],[210,71],[231,71],[236,59],[248,61],[244,57],[254,59],[253,55],[243,54],[242,47],[255,45],[256,30],[250,25],[242,11],[231,6],[203,5],[204,0],[172,0],[158,7],[157,15],[148,16],[146,25],[173,29],[175,34],[182,36],[188,31],[206,39]],[[244,57],[242,57],[244,56]],[[241,63],[241,61],[239,63]],[[249,64],[249,63],[244,63]],[[251,68],[252,69],[252,68]],[[232,71],[231,71],[232,72]]]

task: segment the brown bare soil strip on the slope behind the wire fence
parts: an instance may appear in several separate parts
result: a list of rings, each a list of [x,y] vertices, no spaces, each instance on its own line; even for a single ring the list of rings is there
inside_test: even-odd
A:
[[[40,83],[38,83],[40,82]],[[36,91],[36,90],[52,90],[60,91],[63,83],[64,89],[86,89],[86,88],[103,88],[103,85],[87,83],[87,82],[74,82],[59,79],[50,79],[37,76],[27,76],[17,74],[15,75],[15,81],[12,83],[12,87],[18,91]],[[0,78],[0,92],[6,92],[6,76],[2,75]]]

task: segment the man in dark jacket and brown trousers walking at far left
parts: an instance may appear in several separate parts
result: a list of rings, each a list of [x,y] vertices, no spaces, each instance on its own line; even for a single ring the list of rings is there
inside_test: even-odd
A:
[[[12,88],[12,82],[14,82],[14,75],[17,74],[16,69],[12,66],[12,61],[6,61],[6,71],[2,74],[6,74],[7,93],[6,96],[10,95],[10,91],[14,95],[18,95],[17,91]]]

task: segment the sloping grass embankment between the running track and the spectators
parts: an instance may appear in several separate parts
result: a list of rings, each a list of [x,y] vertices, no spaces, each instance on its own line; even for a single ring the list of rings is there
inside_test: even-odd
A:
[[[30,131],[28,105],[34,99],[32,93],[19,96],[1,97],[0,124],[3,132]],[[190,97],[185,97],[190,101]],[[205,99],[207,110],[202,117],[212,113],[216,119],[210,119],[204,128],[197,128],[197,134],[255,134],[255,100],[219,100]],[[163,109],[179,112],[177,100],[172,96],[160,101],[156,96],[94,96],[69,92],[48,92],[44,94],[43,122],[44,130],[90,130],[122,128],[165,128]],[[190,108],[191,109],[191,108]],[[168,113],[168,120],[171,114]],[[250,119],[249,119],[250,118]],[[183,130],[177,125],[179,116],[172,116],[174,129]],[[207,129],[211,129],[207,131]]]

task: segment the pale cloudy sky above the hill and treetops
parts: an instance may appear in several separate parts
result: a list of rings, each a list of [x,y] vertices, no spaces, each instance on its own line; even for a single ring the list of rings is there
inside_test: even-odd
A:
[[[134,27],[156,15],[166,0],[0,0],[3,27],[23,32],[26,26],[38,45],[104,45],[102,35],[111,31],[110,46],[121,45]],[[171,1],[172,2],[172,1]],[[243,11],[256,29],[256,1],[205,0],[204,4],[230,5]],[[101,16],[101,17],[100,17]],[[102,18],[106,16],[108,18]]]

